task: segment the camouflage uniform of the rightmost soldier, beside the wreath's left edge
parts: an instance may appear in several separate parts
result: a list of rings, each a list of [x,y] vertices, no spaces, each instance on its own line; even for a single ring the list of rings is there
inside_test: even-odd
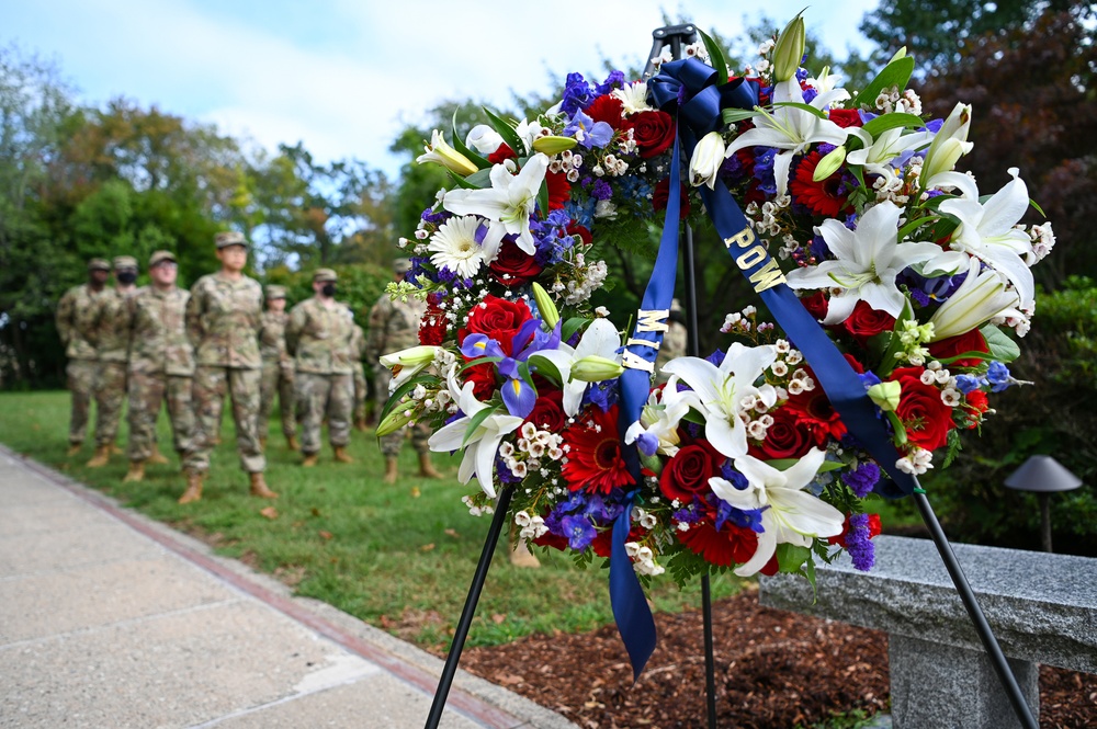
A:
[[[381,355],[398,352],[419,343],[419,321],[427,312],[427,305],[419,299],[408,298],[407,301],[394,301],[387,294],[382,294],[377,303],[370,309],[370,335],[365,344],[366,360],[374,366],[374,381],[378,401],[377,412],[388,399],[388,383],[392,373],[387,367],[378,366]],[[416,453],[429,453],[427,438],[430,431],[420,423],[411,429],[411,445]],[[404,432],[397,431],[381,438],[381,452],[386,458],[395,458],[400,453],[404,443]]]

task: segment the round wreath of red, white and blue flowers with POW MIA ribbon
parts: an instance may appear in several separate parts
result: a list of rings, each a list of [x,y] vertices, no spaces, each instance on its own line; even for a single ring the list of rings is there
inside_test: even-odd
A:
[[[1019,225],[1030,201],[1016,169],[989,196],[954,171],[972,107],[924,118],[905,89],[912,58],[852,95],[800,67],[799,16],[738,77],[702,36],[686,60],[653,59],[649,82],[572,73],[532,121],[487,112],[452,146],[433,133],[417,161],[444,166],[454,187],[400,239],[414,267],[392,294],[428,308],[421,345],[382,357],[394,379],[378,434],[428,423],[430,447],[461,452],[460,480],[479,486],[464,497],[473,514],[510,488],[522,537],[610,558],[611,582],[620,565],[644,583],[665,570],[679,584],[723,569],[813,579],[841,551],[867,570],[880,523],[863,499],[947,466],[959,432],[993,412],[988,395],[1016,384],[1004,329],[1028,330],[1029,267],[1054,236]],[[716,116],[690,126],[706,100]],[[796,346],[811,332],[748,306],[727,315],[723,351],[671,360],[653,387],[669,294],[651,298],[653,278],[632,337],[591,307],[607,276],[595,236],[665,223],[672,249],[679,218],[705,210],[719,229],[734,200],[746,226],[730,252],[757,291],[794,292],[785,316],[806,316],[842,361],[868,413],[856,434],[826,383],[834,360],[813,367]]]

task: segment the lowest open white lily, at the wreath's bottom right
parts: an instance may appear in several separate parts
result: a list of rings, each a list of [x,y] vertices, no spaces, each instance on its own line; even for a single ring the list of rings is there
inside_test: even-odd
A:
[[[713,493],[736,509],[764,510],[758,549],[749,560],[735,568],[736,574],[755,574],[773,557],[779,544],[807,547],[815,537],[841,534],[846,521],[842,513],[803,490],[815,478],[825,458],[826,451],[812,448],[787,470],[778,470],[753,456],[736,458],[735,470],[749,483],[743,490],[720,477],[709,479]]]

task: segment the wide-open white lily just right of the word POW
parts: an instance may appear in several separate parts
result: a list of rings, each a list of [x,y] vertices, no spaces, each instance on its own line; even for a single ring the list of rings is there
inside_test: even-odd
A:
[[[940,255],[935,243],[897,243],[902,210],[891,201],[870,208],[850,230],[837,220],[815,228],[837,260],[796,269],[788,275],[792,288],[840,286],[830,296],[825,324],[845,321],[858,301],[898,317],[905,303],[895,277],[909,265]]]

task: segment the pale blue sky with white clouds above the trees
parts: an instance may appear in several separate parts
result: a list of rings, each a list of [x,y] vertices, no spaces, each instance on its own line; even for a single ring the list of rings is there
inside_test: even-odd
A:
[[[770,0],[782,26],[805,0]],[[753,4],[753,3],[751,3]],[[807,25],[835,50],[867,48],[877,0],[819,2]],[[506,106],[603,58],[640,67],[664,11],[736,37],[727,0],[0,0],[0,46],[53,59],[87,104],[125,96],[216,124],[268,149],[303,141],[320,161],[355,157],[395,176],[388,146],[451,99]],[[840,8],[840,10],[839,10]],[[599,76],[599,80],[601,77]]]

